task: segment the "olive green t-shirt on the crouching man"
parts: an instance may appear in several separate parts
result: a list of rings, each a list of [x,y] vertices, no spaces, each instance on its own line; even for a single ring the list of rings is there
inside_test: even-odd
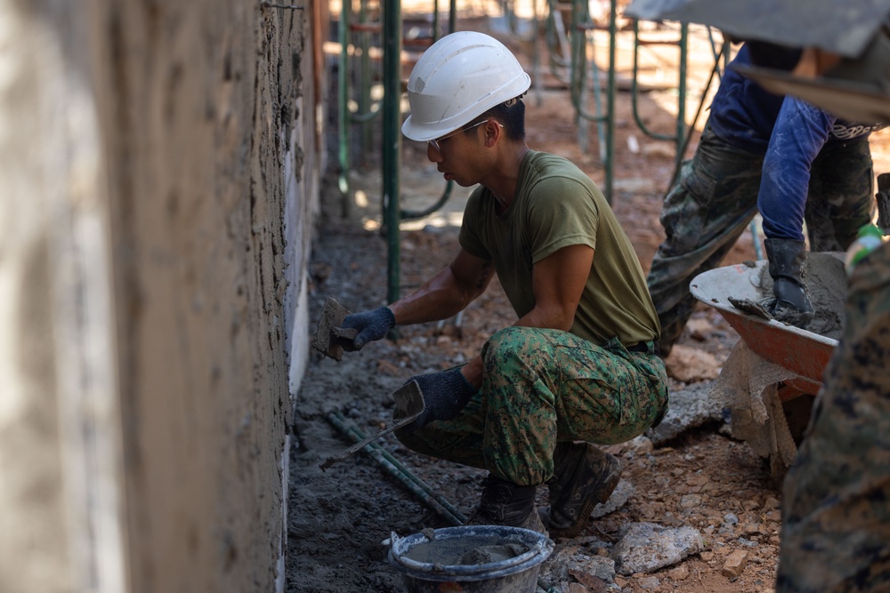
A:
[[[473,190],[460,244],[492,260],[516,315],[535,306],[532,265],[563,247],[585,244],[594,260],[570,332],[595,344],[618,337],[628,345],[657,340],[659,318],[643,268],[611,206],[592,180],[562,156],[529,151],[516,196],[498,215],[488,188]]]

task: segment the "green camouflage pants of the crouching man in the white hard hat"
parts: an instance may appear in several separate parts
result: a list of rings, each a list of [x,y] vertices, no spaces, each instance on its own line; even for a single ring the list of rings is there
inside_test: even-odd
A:
[[[508,327],[482,349],[481,389],[457,418],[398,431],[410,449],[488,469],[518,485],[553,476],[558,441],[623,443],[667,409],[667,374],[650,346],[629,352],[558,330]]]

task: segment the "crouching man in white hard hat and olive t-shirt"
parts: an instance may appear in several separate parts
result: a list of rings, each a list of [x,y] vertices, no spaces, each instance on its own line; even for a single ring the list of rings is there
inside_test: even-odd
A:
[[[439,274],[387,307],[358,313],[347,349],[393,325],[446,319],[495,274],[514,325],[467,364],[412,377],[425,415],[397,432],[411,449],[487,469],[473,523],[570,536],[619,482],[597,445],[625,442],[667,410],[659,321],[633,246],[595,184],[525,142],[529,76],[494,38],[443,37],[417,62],[402,132],[428,142],[446,180],[470,196],[460,249]],[[538,485],[550,506],[535,509]]]

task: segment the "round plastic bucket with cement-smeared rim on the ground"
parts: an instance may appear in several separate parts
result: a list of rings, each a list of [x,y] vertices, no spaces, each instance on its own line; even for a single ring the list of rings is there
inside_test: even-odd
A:
[[[392,533],[387,558],[409,593],[534,593],[553,549],[553,541],[530,529],[463,525],[404,538]]]

